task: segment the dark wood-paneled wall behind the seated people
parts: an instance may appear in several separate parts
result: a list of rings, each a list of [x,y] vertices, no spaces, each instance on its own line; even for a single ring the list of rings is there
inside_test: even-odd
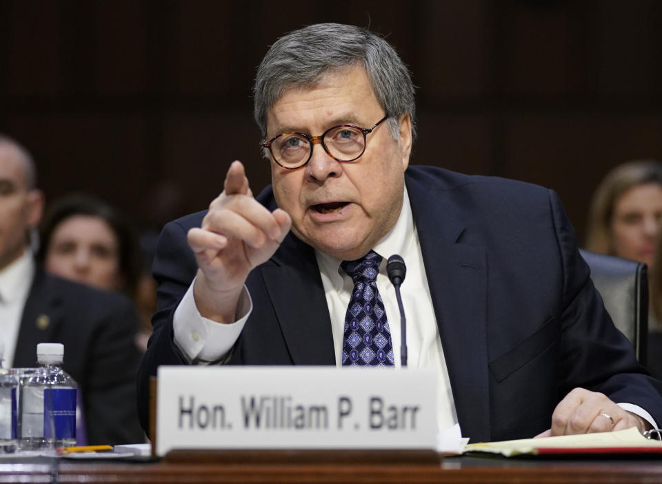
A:
[[[554,188],[578,232],[612,166],[662,159],[662,2],[0,0],[0,132],[49,198],[96,192],[137,220],[172,181],[179,212],[234,159],[269,183],[254,70],[321,21],[388,36],[419,87],[413,163]]]

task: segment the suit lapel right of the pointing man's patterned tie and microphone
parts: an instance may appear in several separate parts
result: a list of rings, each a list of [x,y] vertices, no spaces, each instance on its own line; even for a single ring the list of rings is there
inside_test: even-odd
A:
[[[457,418],[472,441],[490,438],[485,250],[461,243],[457,207],[428,185],[408,178],[425,272],[437,317]],[[434,207],[435,210],[430,210]]]

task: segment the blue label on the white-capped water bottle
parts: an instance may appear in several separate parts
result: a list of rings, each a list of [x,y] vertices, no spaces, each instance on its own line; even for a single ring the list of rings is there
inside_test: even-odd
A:
[[[43,390],[43,436],[76,438],[76,389]]]

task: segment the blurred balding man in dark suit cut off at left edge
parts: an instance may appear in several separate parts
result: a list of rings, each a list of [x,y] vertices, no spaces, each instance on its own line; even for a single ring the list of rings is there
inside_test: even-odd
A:
[[[43,196],[34,173],[28,152],[0,137],[0,337],[10,351],[7,361],[32,367],[37,343],[63,343],[64,370],[81,392],[87,442],[142,442],[132,303],[51,276],[35,263],[28,234],[41,218]]]

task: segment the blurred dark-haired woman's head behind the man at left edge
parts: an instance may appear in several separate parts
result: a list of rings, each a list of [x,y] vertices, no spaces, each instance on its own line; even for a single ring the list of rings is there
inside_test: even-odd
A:
[[[134,301],[141,316],[136,343],[144,352],[152,332],[156,287],[143,270],[137,234],[119,210],[96,196],[64,196],[48,206],[39,241],[37,259],[48,272],[123,292]]]

